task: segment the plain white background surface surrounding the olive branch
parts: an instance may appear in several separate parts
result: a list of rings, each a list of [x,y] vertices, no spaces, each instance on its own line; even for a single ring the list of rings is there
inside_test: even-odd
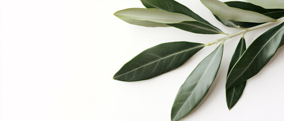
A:
[[[220,24],[198,0],[178,2],[226,33],[240,31]],[[224,36],[135,26],[113,16],[118,10],[144,8],[139,0],[3,0],[1,4],[3,121],[170,120],[179,87],[217,45],[150,80],[129,83],[112,76],[154,45],[208,43]],[[275,25],[247,33],[247,45]],[[226,75],[239,39],[225,43],[222,65],[209,93],[182,120],[284,120],[283,47],[249,79],[238,103],[228,110]]]

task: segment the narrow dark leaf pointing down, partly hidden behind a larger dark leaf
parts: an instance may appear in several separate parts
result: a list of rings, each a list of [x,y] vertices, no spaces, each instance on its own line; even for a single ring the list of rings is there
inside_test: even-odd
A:
[[[245,46],[245,40],[242,37],[240,42],[237,45],[237,48],[232,56],[231,59],[231,63],[228,69],[228,74],[227,77],[229,75],[229,73],[231,72],[233,66],[236,64],[236,62],[238,61],[238,59],[241,57],[241,55],[243,54],[243,52],[245,51],[246,46]],[[239,98],[242,95],[242,92],[244,90],[246,81],[243,82],[242,84],[235,86],[231,89],[226,90],[226,101],[227,101],[227,106],[229,109],[231,109],[239,100]]]

